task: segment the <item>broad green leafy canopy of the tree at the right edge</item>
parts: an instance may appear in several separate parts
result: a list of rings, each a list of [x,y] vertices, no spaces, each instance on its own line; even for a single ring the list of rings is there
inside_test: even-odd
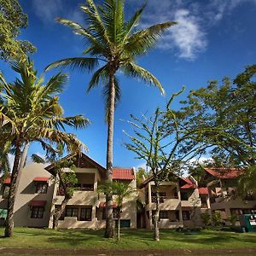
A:
[[[204,129],[201,141],[213,147],[222,166],[255,165],[256,65],[246,67],[231,83],[211,81],[192,90],[183,111],[184,125]],[[221,165],[221,163],[219,163]]]

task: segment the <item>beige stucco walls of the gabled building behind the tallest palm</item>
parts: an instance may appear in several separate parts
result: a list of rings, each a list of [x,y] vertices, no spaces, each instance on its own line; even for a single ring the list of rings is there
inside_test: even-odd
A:
[[[69,169],[65,169],[65,172],[71,172]],[[94,191],[75,191],[73,198],[68,201],[67,207],[82,207],[91,206],[92,216],[91,221],[79,221],[77,218],[66,217],[60,221],[59,227],[61,229],[76,229],[76,228],[89,228],[89,229],[102,229],[105,227],[106,221],[102,220],[102,211],[99,208],[101,202],[106,201],[105,195],[98,195],[97,186],[101,183],[101,177],[98,170],[95,168],[76,168],[74,172],[77,173],[79,183],[94,183]],[[93,174],[93,175],[92,175]],[[136,179],[129,181],[131,188],[136,188]],[[55,209],[55,205],[60,205],[63,200],[63,196],[57,196],[57,189],[59,184],[55,184],[53,205],[51,208],[51,218],[49,227],[52,225],[52,218]],[[114,196],[113,196],[114,202]],[[137,193],[133,193],[128,198],[125,198],[121,219],[130,219],[131,228],[137,228]]]

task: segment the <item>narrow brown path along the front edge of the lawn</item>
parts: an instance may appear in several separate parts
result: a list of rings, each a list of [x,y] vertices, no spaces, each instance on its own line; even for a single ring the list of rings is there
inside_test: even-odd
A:
[[[31,255],[137,255],[137,256],[163,256],[163,255],[226,255],[242,254],[256,255],[256,248],[243,249],[153,249],[153,250],[122,250],[122,249],[36,249],[36,248],[0,248],[0,254],[31,254]]]

